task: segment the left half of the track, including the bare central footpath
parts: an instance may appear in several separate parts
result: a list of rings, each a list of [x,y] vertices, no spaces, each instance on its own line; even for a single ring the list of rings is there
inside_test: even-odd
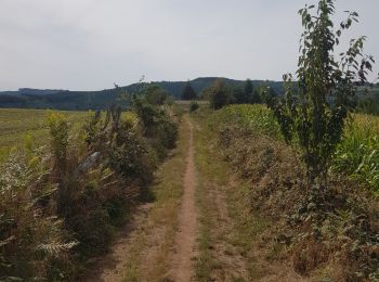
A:
[[[153,203],[140,205],[109,253],[80,281],[191,281],[197,216],[193,126],[184,116],[177,149],[151,188]]]

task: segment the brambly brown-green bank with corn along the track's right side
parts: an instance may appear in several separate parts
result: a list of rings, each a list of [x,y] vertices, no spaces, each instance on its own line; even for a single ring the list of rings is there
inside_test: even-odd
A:
[[[305,189],[305,169],[285,144],[270,110],[261,105],[233,105],[210,115],[209,129],[219,133],[223,156],[250,183],[249,213],[275,222],[262,231],[254,246],[258,247],[254,252],[265,257],[269,265],[291,261],[298,273],[315,280],[378,279],[379,206],[377,197],[366,190],[366,180],[370,179],[368,170],[356,169],[369,156],[368,150],[362,149],[366,157],[357,150],[358,143],[366,146],[367,131],[363,125],[367,120],[362,116],[354,118],[353,123],[360,125],[354,129],[355,137],[351,133],[353,129],[348,128],[347,138],[334,157],[336,167],[330,174],[328,196],[317,206],[310,202],[312,192]],[[367,127],[370,126],[368,123]],[[378,131],[370,132],[371,138],[376,134]],[[356,145],[342,145],[344,142]],[[342,161],[347,156],[358,161]],[[367,166],[371,164],[374,168],[369,162]],[[352,165],[343,170],[356,172],[349,177],[336,172],[342,164]],[[371,179],[377,174],[374,171]]]

